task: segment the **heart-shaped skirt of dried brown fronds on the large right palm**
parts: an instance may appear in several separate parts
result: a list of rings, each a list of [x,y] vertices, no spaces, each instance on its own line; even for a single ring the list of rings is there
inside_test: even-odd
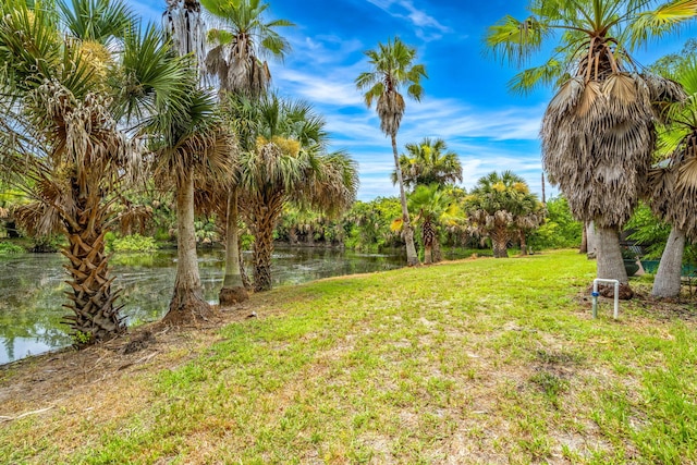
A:
[[[572,212],[599,225],[632,215],[656,144],[649,88],[637,74],[609,73],[602,97],[580,106],[583,83],[562,87],[542,120],[542,163]],[[570,86],[579,90],[571,93]],[[592,85],[592,84],[589,84]]]

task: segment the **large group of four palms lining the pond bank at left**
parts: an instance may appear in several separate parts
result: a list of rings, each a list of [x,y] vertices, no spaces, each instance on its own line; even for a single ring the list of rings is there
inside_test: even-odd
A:
[[[255,235],[254,287],[262,291],[283,205],[335,213],[355,198],[356,166],[328,152],[321,117],[268,91],[259,57],[288,50],[274,28],[290,23],[265,23],[267,5],[256,0],[208,3],[221,19],[208,33],[201,5],[188,0],[167,2],[162,29],[140,25],[121,1],[0,4],[0,162],[7,183],[33,199],[17,221],[68,240],[66,320],[77,346],[125,331],[105,235],[149,213],[132,195],[146,181],[175,198],[172,322],[211,311],[198,274],[197,210],[225,220],[221,299],[230,302],[245,298],[234,292],[239,213]]]

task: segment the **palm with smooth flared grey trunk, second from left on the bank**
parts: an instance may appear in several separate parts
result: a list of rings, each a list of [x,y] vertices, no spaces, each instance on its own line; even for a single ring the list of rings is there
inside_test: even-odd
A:
[[[198,76],[206,75],[206,30],[200,14],[200,3],[192,0],[168,0],[163,15],[166,29],[176,45],[180,56],[193,54]],[[184,318],[207,318],[210,306],[203,298],[198,262],[196,259],[196,237],[194,233],[195,182],[199,188],[210,186],[206,171],[219,175],[234,173],[231,155],[234,148],[230,134],[220,127],[220,121],[212,118],[211,96],[189,86],[194,98],[174,112],[183,110],[186,118],[178,121],[169,112],[154,121],[156,132],[167,136],[156,148],[162,167],[173,169],[178,208],[178,262],[174,294],[166,319],[179,321]],[[191,121],[187,122],[186,119]],[[228,154],[224,152],[228,150]],[[194,174],[192,171],[198,171]],[[163,174],[168,171],[161,171]],[[230,206],[234,209],[234,206]]]

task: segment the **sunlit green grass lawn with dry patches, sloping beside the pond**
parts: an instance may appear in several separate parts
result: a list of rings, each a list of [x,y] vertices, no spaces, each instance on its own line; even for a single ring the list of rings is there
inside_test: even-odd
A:
[[[697,463],[694,307],[592,320],[594,278],[555,252],[278,289],[42,400],[50,359],[20,364],[0,415],[48,409],[0,423],[0,462]]]

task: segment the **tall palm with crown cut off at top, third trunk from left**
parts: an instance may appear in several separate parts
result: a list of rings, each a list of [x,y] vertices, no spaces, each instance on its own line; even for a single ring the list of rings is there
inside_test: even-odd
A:
[[[271,73],[265,60],[273,57],[282,60],[290,50],[289,42],[276,29],[292,26],[285,20],[266,22],[264,15],[268,3],[259,0],[242,1],[204,1],[204,5],[222,22],[221,28],[211,29],[209,40],[215,45],[206,57],[208,73],[218,77],[221,100],[225,94],[230,98],[246,99],[239,101],[242,106],[232,108],[244,109],[244,106],[255,105],[248,99],[256,99],[266,94]],[[233,131],[239,136],[241,149],[245,152],[254,150],[254,137],[249,138],[248,126],[252,121],[244,121],[248,117],[244,111],[233,114],[228,107],[225,115],[229,118]],[[243,119],[243,120],[241,120]],[[225,223],[225,277],[220,290],[221,305],[231,305],[247,298],[243,286],[242,268],[239,250],[239,188],[235,179],[230,180],[227,191],[228,209],[222,216]]]

